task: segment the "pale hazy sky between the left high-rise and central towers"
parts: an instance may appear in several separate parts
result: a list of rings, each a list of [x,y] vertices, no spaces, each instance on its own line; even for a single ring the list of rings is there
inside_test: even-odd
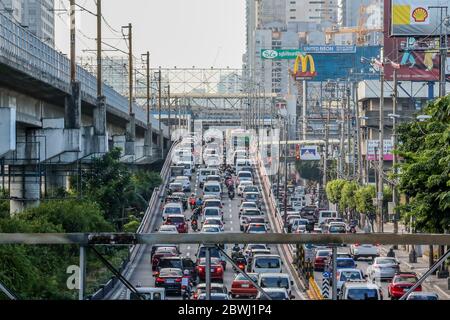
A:
[[[56,9],[67,9],[69,1],[55,0]],[[95,12],[94,0],[77,4]],[[152,67],[242,67],[245,51],[244,0],[103,0],[103,15],[116,31],[133,24],[136,57],[150,51]],[[56,11],[56,47],[68,53],[68,14]],[[78,54],[94,56],[95,17],[77,14]],[[126,51],[122,39],[104,24],[104,41]],[[126,30],[124,30],[127,33]],[[83,33],[84,36],[81,34]],[[109,49],[104,46],[103,49]],[[120,52],[104,54],[122,55]]]

